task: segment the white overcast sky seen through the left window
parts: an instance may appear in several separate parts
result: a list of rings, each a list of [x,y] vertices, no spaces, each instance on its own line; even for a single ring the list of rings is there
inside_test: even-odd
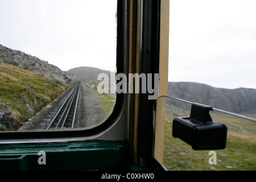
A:
[[[115,71],[116,4],[113,0],[0,0],[0,44],[63,71],[81,66]]]

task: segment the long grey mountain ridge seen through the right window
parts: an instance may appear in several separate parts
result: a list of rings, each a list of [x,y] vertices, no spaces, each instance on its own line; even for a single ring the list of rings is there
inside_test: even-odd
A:
[[[222,89],[195,82],[168,82],[168,96],[234,113],[256,114],[256,89]]]

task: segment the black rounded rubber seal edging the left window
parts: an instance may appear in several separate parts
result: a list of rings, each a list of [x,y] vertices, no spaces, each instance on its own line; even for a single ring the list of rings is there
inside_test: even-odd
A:
[[[126,0],[117,1],[117,74],[126,73]],[[118,121],[123,113],[125,94],[116,93],[116,100],[112,114],[101,125],[89,128],[55,131],[6,131],[0,132],[0,143],[28,143],[28,142],[60,142],[79,139],[93,139],[106,133]]]

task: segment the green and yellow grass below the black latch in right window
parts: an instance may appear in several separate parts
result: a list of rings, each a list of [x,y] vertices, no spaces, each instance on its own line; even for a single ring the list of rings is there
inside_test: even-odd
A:
[[[222,118],[222,120],[229,121],[226,124],[236,133],[228,131],[226,148],[224,150],[215,150],[217,152],[217,164],[210,165],[208,163],[210,158],[209,151],[195,151],[187,143],[172,137],[173,118],[173,116],[166,114],[163,163],[167,169],[193,171],[207,171],[210,169],[247,171],[256,169],[255,122],[245,122],[235,117],[228,116],[225,118],[223,115],[213,115],[213,118]],[[236,127],[236,130],[233,127]]]

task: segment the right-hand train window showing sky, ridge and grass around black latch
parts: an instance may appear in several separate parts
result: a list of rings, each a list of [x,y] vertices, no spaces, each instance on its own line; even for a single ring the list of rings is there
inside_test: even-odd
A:
[[[255,170],[254,1],[170,1],[170,67],[163,164],[169,170]],[[181,100],[176,100],[177,98]],[[172,136],[191,103],[228,126],[224,150],[195,151]]]

